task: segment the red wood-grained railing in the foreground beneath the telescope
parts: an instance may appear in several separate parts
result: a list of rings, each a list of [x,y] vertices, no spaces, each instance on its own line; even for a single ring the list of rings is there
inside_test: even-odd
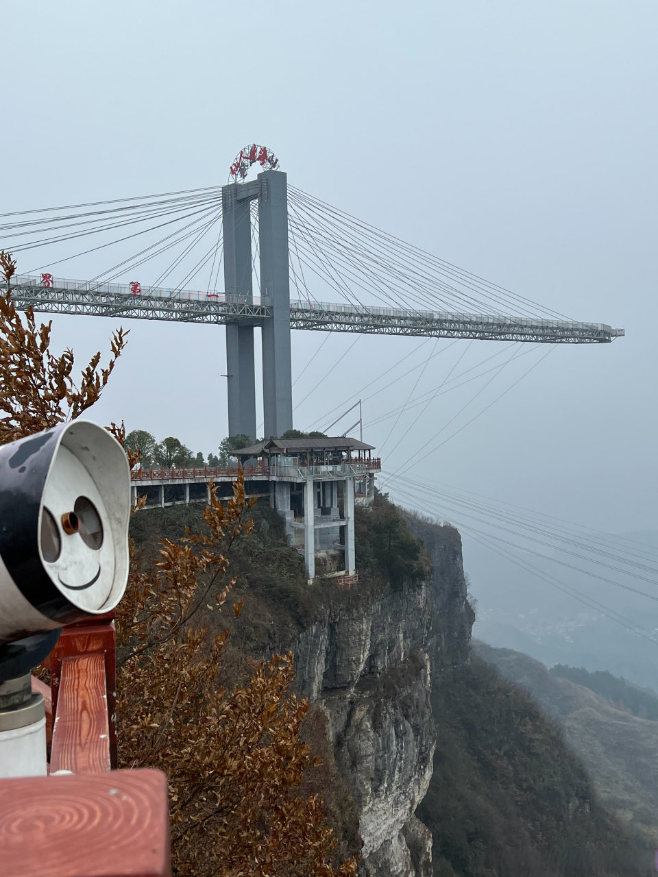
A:
[[[51,775],[0,780],[3,877],[171,873],[166,776],[111,769],[115,645],[112,613],[70,624],[45,662],[51,687],[32,678],[46,701]]]

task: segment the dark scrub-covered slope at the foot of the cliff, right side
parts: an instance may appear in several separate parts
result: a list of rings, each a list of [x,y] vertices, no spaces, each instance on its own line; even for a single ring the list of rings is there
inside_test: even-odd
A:
[[[557,724],[485,661],[473,655],[435,680],[433,712],[434,773],[418,816],[436,877],[644,873]]]

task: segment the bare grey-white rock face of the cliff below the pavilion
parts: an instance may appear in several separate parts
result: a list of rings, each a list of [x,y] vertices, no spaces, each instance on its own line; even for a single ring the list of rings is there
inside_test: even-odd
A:
[[[350,781],[372,877],[432,874],[432,836],[415,816],[433,770],[432,668],[465,660],[473,623],[459,535],[419,524],[418,537],[431,580],[330,605],[295,648],[297,683],[324,711]]]

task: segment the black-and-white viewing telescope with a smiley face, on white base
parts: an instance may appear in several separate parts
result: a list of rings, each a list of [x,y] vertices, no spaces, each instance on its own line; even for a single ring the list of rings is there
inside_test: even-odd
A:
[[[46,774],[32,667],[61,627],[117,605],[128,578],[123,448],[75,420],[0,446],[0,777]]]

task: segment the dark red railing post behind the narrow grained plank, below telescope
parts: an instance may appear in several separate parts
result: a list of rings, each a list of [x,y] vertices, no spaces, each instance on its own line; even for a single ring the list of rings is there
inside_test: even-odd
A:
[[[99,653],[104,655],[107,711],[110,723],[111,766],[117,767],[117,660],[116,631],[111,620],[114,613],[106,616],[88,618],[77,624],[68,624],[62,631],[57,645],[44,665],[51,674],[53,691],[53,711],[57,713],[57,700],[60,690],[61,662],[65,658],[82,654]],[[100,620],[100,623],[99,623]]]

